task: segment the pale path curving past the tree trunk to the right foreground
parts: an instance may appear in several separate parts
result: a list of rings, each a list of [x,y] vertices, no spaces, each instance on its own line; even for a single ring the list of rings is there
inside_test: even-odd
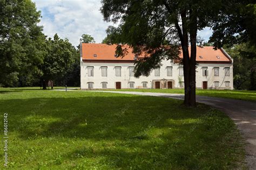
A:
[[[166,93],[143,93],[132,91],[95,91],[104,93],[122,93],[144,96],[158,96],[177,98],[182,100],[182,94]],[[256,169],[256,104],[253,102],[233,100],[227,98],[197,96],[197,102],[212,105],[215,108],[223,110],[230,116],[238,129],[241,130],[246,140],[246,162],[250,169]]]

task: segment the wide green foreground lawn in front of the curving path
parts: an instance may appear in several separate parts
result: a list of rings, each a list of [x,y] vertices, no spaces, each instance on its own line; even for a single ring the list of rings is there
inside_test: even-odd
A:
[[[231,119],[207,105],[187,109],[182,102],[90,91],[1,88],[1,119],[4,112],[9,115],[9,166],[16,169],[241,166],[244,144]],[[3,155],[3,149],[0,153]]]

